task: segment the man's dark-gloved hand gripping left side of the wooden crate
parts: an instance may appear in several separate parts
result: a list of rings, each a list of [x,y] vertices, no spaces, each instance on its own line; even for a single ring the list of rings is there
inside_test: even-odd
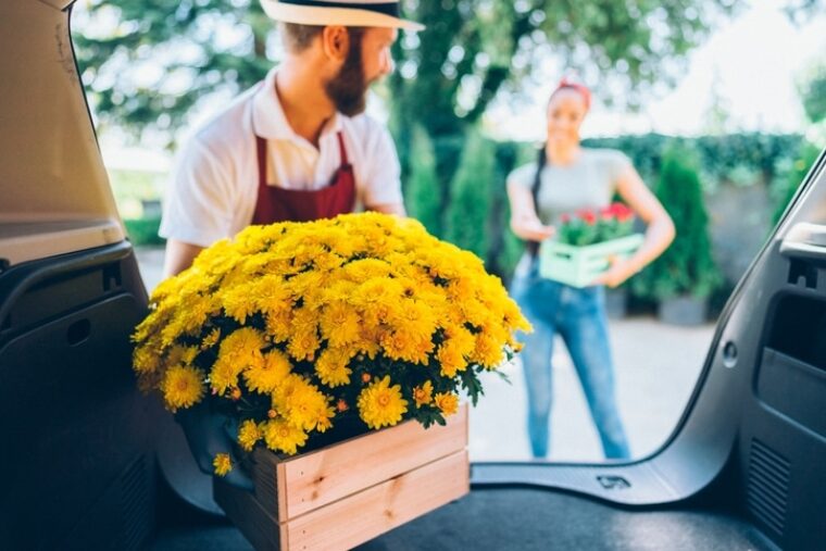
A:
[[[175,413],[175,419],[184,428],[189,450],[198,463],[198,468],[212,475],[215,473],[212,465],[215,455],[228,453],[233,459],[233,469],[222,479],[237,488],[252,491],[252,479],[241,469],[235,454],[237,444],[234,439],[235,427],[231,419],[226,415],[213,413],[205,402],[179,410]]]

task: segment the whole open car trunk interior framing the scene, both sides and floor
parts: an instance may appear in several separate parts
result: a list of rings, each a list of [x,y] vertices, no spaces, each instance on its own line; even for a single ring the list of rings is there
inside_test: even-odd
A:
[[[0,2],[0,548],[245,549],[155,476],[170,416],[132,375],[147,297],[84,99],[70,4]],[[658,453],[475,464],[470,497],[363,549],[822,546],[825,163],[735,291]]]

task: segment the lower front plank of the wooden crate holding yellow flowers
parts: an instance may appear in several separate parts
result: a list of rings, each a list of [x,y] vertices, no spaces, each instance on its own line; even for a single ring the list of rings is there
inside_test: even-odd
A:
[[[450,503],[470,491],[468,465],[462,450],[293,518],[289,549],[349,549]]]

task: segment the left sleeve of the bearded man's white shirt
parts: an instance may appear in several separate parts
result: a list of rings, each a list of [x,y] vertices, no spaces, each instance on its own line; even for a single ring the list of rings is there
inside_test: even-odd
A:
[[[159,234],[199,247],[231,237],[231,178],[209,148],[192,138],[180,151],[166,188]]]

